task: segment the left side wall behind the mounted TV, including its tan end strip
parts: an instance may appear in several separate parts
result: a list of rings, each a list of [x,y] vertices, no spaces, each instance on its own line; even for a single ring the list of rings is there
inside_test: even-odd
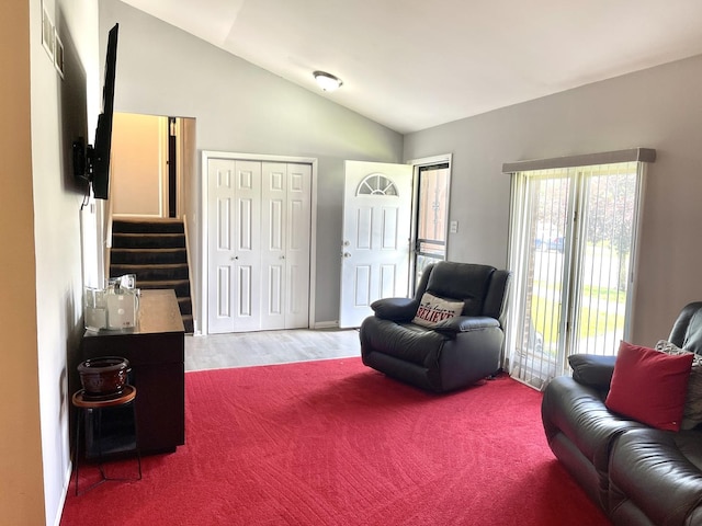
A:
[[[63,78],[42,46],[44,9],[65,46]],[[83,333],[84,233],[94,224],[94,214],[80,211],[84,185],[72,174],[71,142],[87,136],[88,115],[98,114],[91,96],[99,82],[98,7],[90,0],[30,0],[4,2],[1,10],[8,52],[0,61],[3,79],[12,81],[0,90],[0,316],[11,328],[0,345],[0,419],[8,423],[0,441],[7,481],[0,523],[55,525],[71,469],[70,379]]]

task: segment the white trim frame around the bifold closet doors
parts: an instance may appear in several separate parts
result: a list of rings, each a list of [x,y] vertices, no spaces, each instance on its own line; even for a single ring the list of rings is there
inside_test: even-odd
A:
[[[200,182],[201,182],[201,210],[202,217],[200,221],[201,228],[201,294],[200,305],[202,306],[202,334],[208,333],[208,312],[207,312],[207,279],[208,279],[208,254],[207,254],[207,163],[210,159],[231,159],[241,161],[260,161],[260,162],[290,162],[297,164],[312,165],[312,218],[309,227],[309,316],[307,323],[309,328],[315,328],[315,297],[317,282],[314,276],[317,275],[317,158],[314,157],[290,157],[290,156],[270,156],[263,153],[238,153],[231,151],[203,150],[200,164]]]

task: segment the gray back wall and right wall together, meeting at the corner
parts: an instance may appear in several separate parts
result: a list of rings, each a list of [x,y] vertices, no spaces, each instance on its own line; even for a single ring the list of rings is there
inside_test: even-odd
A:
[[[343,160],[453,153],[449,256],[505,266],[506,161],[631,147],[658,151],[648,172],[633,339],[666,336],[695,278],[702,211],[702,57],[501,108],[405,137],[214,46],[101,0],[100,32],[121,23],[115,108],[197,119],[197,147],[319,159],[318,322],[337,318]],[[102,52],[101,52],[102,53]]]

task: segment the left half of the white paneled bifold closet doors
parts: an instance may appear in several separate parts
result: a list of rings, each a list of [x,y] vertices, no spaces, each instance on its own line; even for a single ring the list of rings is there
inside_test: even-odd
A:
[[[260,329],[261,163],[207,165],[210,333]]]

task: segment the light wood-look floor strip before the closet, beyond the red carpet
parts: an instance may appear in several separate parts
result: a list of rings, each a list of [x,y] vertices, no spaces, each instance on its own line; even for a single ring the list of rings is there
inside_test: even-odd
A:
[[[360,356],[356,329],[295,329],[185,335],[185,370]]]

